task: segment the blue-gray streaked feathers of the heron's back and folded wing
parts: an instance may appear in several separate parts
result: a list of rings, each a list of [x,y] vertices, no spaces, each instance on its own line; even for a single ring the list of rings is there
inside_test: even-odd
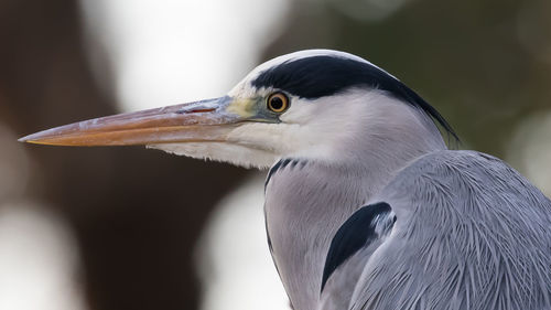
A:
[[[375,200],[399,220],[350,309],[551,309],[551,203],[503,161],[433,152]]]

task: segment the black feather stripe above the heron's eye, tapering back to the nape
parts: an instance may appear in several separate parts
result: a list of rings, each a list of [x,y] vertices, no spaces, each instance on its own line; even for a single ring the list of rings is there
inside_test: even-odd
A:
[[[335,55],[290,60],[261,72],[251,85],[273,87],[307,99],[335,95],[354,86],[386,90],[422,109],[458,141],[455,131],[435,108],[399,79],[366,62]]]

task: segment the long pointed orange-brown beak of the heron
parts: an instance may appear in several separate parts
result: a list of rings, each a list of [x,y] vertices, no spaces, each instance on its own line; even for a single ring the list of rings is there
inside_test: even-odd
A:
[[[228,96],[100,117],[40,131],[21,142],[51,146],[130,146],[224,141],[242,118],[226,110]]]

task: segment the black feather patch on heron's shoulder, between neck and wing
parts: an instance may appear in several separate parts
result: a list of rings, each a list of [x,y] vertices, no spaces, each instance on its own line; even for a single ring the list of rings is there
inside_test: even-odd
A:
[[[366,205],[356,211],[346,222],[338,228],[337,233],[331,242],[325,267],[323,269],[322,291],[329,276],[346,261],[350,256],[359,249],[370,244],[374,239],[379,238],[377,232],[388,232],[396,221],[378,221],[381,217],[391,216],[391,209],[388,203],[379,202],[376,204]],[[389,223],[391,223],[389,225]],[[387,225],[388,227],[378,227],[378,225]]]

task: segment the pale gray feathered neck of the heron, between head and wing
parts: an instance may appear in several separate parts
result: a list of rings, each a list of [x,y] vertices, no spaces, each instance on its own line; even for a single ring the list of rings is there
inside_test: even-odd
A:
[[[385,100],[381,103],[381,100]],[[378,94],[332,146],[334,160],[293,158],[270,171],[266,221],[273,259],[295,309],[315,309],[338,227],[417,158],[445,149],[421,110]],[[375,105],[377,104],[377,105]],[[370,106],[369,106],[370,105]],[[357,125],[357,126],[356,126]]]

